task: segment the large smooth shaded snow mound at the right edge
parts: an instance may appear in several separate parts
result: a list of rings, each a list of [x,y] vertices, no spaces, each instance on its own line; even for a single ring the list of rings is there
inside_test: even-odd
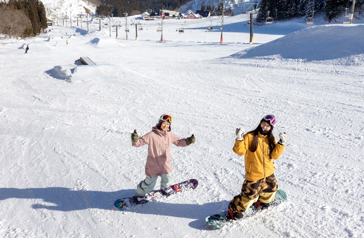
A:
[[[363,35],[363,24],[313,26],[231,57],[247,59],[279,55],[285,59],[340,59],[341,63],[358,63],[364,54]]]

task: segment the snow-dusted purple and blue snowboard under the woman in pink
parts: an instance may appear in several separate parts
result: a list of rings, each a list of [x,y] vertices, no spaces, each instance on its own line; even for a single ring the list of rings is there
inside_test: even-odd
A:
[[[199,185],[199,182],[196,179],[188,179],[186,181],[179,182],[179,183],[176,183],[174,185],[171,185],[171,187],[174,190],[174,193],[176,193],[176,192],[182,192],[182,191],[184,191],[186,189],[195,189],[197,187],[197,185]],[[172,194],[174,194],[174,193],[172,193]],[[172,194],[170,194],[170,195],[172,195]],[[157,197],[161,197],[161,196],[166,196],[162,192],[161,189],[151,191],[151,192],[146,194],[146,201],[144,203],[153,201]],[[139,205],[139,204],[144,204],[144,203],[138,203],[137,198],[135,196],[132,196],[132,197],[125,197],[125,198],[122,198],[122,199],[117,199],[114,202],[114,206],[118,210],[124,211],[129,207]]]

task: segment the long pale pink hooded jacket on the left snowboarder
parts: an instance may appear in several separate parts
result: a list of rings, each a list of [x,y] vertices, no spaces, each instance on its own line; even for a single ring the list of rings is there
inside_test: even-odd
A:
[[[186,139],[180,139],[171,131],[162,131],[154,126],[152,131],[143,135],[132,146],[148,145],[148,157],[145,174],[150,177],[161,176],[172,172],[171,144],[187,146]]]

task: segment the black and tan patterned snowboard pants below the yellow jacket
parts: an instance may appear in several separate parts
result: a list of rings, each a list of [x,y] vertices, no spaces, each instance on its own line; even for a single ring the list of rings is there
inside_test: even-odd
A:
[[[229,203],[229,209],[232,212],[244,212],[258,200],[269,203],[273,201],[277,190],[278,183],[274,174],[257,181],[245,180],[241,193],[236,195]]]

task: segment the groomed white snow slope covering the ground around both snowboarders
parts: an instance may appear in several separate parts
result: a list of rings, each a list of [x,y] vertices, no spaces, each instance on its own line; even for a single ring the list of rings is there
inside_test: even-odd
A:
[[[225,18],[223,44],[218,18],[166,20],[163,41],[160,21],[142,21],[138,40],[135,25],[126,40],[94,21],[0,35],[0,237],[364,237],[364,25],[297,19],[255,26],[249,44],[247,17]],[[145,178],[147,147],[131,133],[164,113],[177,135],[196,136],[172,146],[174,179],[199,186],[114,210]],[[211,230],[205,218],[245,179],[235,129],[266,114],[288,137],[275,162],[288,199]]]

